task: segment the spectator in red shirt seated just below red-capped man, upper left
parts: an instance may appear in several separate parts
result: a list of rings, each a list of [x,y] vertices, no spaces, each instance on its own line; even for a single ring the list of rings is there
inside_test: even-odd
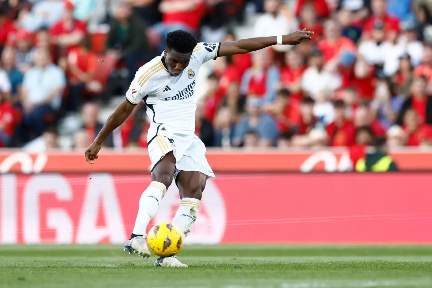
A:
[[[84,90],[98,93],[102,91],[102,85],[93,80],[98,59],[96,54],[90,51],[90,39],[84,38],[79,47],[72,48],[67,57],[69,72],[69,109],[75,111],[78,108]]]

